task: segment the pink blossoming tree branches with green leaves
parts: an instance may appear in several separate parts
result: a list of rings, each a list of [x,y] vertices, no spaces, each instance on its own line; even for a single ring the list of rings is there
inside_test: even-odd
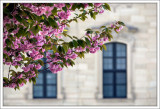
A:
[[[70,36],[65,29],[73,21],[85,21],[87,15],[95,20],[104,10],[110,11],[107,3],[4,4],[3,64],[10,67],[8,78],[3,77],[3,86],[19,89],[27,81],[35,83],[43,70],[57,73],[73,66],[76,58],[105,49],[103,44],[113,38],[113,31],[121,31],[125,26],[123,22],[101,26],[100,31],[88,28],[81,38]],[[71,13],[75,17],[70,18]],[[66,42],[62,37],[69,37],[71,41]],[[46,58],[47,62],[41,58]],[[49,67],[41,70],[45,64]],[[11,66],[22,71],[12,70]]]

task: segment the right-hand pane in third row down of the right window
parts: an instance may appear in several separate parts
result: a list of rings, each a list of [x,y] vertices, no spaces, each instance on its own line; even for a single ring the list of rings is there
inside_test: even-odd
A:
[[[126,73],[117,72],[116,73],[116,83],[117,84],[125,84],[126,83]]]

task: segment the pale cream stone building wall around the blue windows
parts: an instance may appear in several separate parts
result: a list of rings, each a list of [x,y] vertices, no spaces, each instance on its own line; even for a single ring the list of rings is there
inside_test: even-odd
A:
[[[110,4],[112,12],[98,15],[96,20],[72,23],[69,34],[83,36],[84,29],[98,29],[102,25],[121,20],[126,28],[113,33],[111,42],[127,46],[127,98],[103,98],[103,54],[86,54],[76,59],[74,67],[65,68],[57,74],[57,98],[34,99],[33,84],[27,83],[20,91],[4,88],[4,106],[27,105],[157,105],[157,5],[156,4]],[[7,72],[4,66],[4,72]],[[7,74],[4,74],[7,75]]]

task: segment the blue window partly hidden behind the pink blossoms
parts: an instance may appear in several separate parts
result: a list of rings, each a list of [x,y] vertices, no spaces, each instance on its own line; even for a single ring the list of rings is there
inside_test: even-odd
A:
[[[46,58],[42,58],[44,63]],[[40,70],[48,67],[45,64]],[[53,74],[49,69],[41,71],[36,79],[36,84],[33,85],[34,98],[57,98],[57,74]]]

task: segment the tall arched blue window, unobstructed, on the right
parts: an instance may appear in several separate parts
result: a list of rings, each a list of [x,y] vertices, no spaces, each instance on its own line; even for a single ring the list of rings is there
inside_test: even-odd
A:
[[[108,43],[103,51],[103,98],[126,98],[126,44]]]

